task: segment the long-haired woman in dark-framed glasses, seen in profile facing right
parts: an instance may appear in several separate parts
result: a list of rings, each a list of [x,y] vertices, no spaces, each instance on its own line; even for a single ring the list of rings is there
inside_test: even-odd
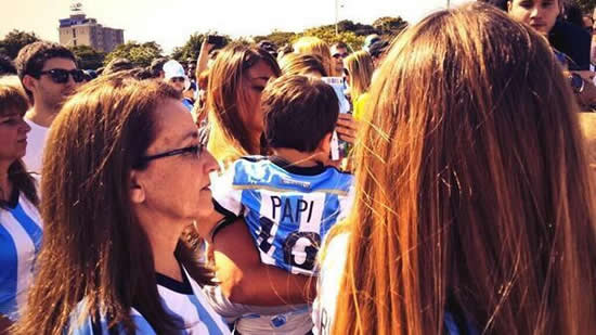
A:
[[[182,239],[213,210],[216,169],[173,88],[88,83],[52,124],[43,246],[15,334],[228,334],[199,287],[212,274]]]

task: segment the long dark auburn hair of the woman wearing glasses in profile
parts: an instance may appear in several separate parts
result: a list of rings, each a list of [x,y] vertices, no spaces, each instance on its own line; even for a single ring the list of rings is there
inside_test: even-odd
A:
[[[150,241],[129,196],[130,173],[146,168],[141,157],[156,137],[155,111],[168,99],[180,95],[125,72],[88,83],[53,121],[41,181],[43,246],[15,334],[63,334],[70,321],[99,322],[100,314],[132,334],[132,307],[157,334],[183,326],[161,304]],[[185,242],[178,260],[210,283]],[[81,301],[80,318],[70,320]]]

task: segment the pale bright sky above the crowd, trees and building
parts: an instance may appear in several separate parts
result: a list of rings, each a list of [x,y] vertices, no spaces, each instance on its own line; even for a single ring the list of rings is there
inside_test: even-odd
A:
[[[451,0],[458,4],[469,0]],[[166,52],[182,46],[195,31],[218,30],[238,36],[273,29],[301,31],[335,22],[335,0],[2,0],[0,37],[12,29],[35,31],[57,41],[59,18],[68,17],[73,2],[104,26],[125,29],[126,40],[158,42]],[[371,24],[380,16],[416,22],[444,8],[446,0],[338,0],[339,20]]]

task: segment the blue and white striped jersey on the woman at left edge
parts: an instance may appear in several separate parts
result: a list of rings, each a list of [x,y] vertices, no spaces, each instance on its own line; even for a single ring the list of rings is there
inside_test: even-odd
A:
[[[31,285],[34,262],[41,247],[39,211],[24,196],[0,208],[0,314],[16,321]]]

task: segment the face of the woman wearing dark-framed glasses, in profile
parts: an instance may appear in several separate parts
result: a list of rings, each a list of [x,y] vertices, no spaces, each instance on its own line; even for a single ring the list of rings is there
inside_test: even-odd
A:
[[[213,205],[209,173],[218,169],[218,164],[200,146],[191,113],[180,101],[167,99],[157,106],[154,118],[156,137],[145,156],[179,153],[152,159],[146,169],[137,171],[144,192],[143,206],[155,217],[189,223],[210,215]]]

